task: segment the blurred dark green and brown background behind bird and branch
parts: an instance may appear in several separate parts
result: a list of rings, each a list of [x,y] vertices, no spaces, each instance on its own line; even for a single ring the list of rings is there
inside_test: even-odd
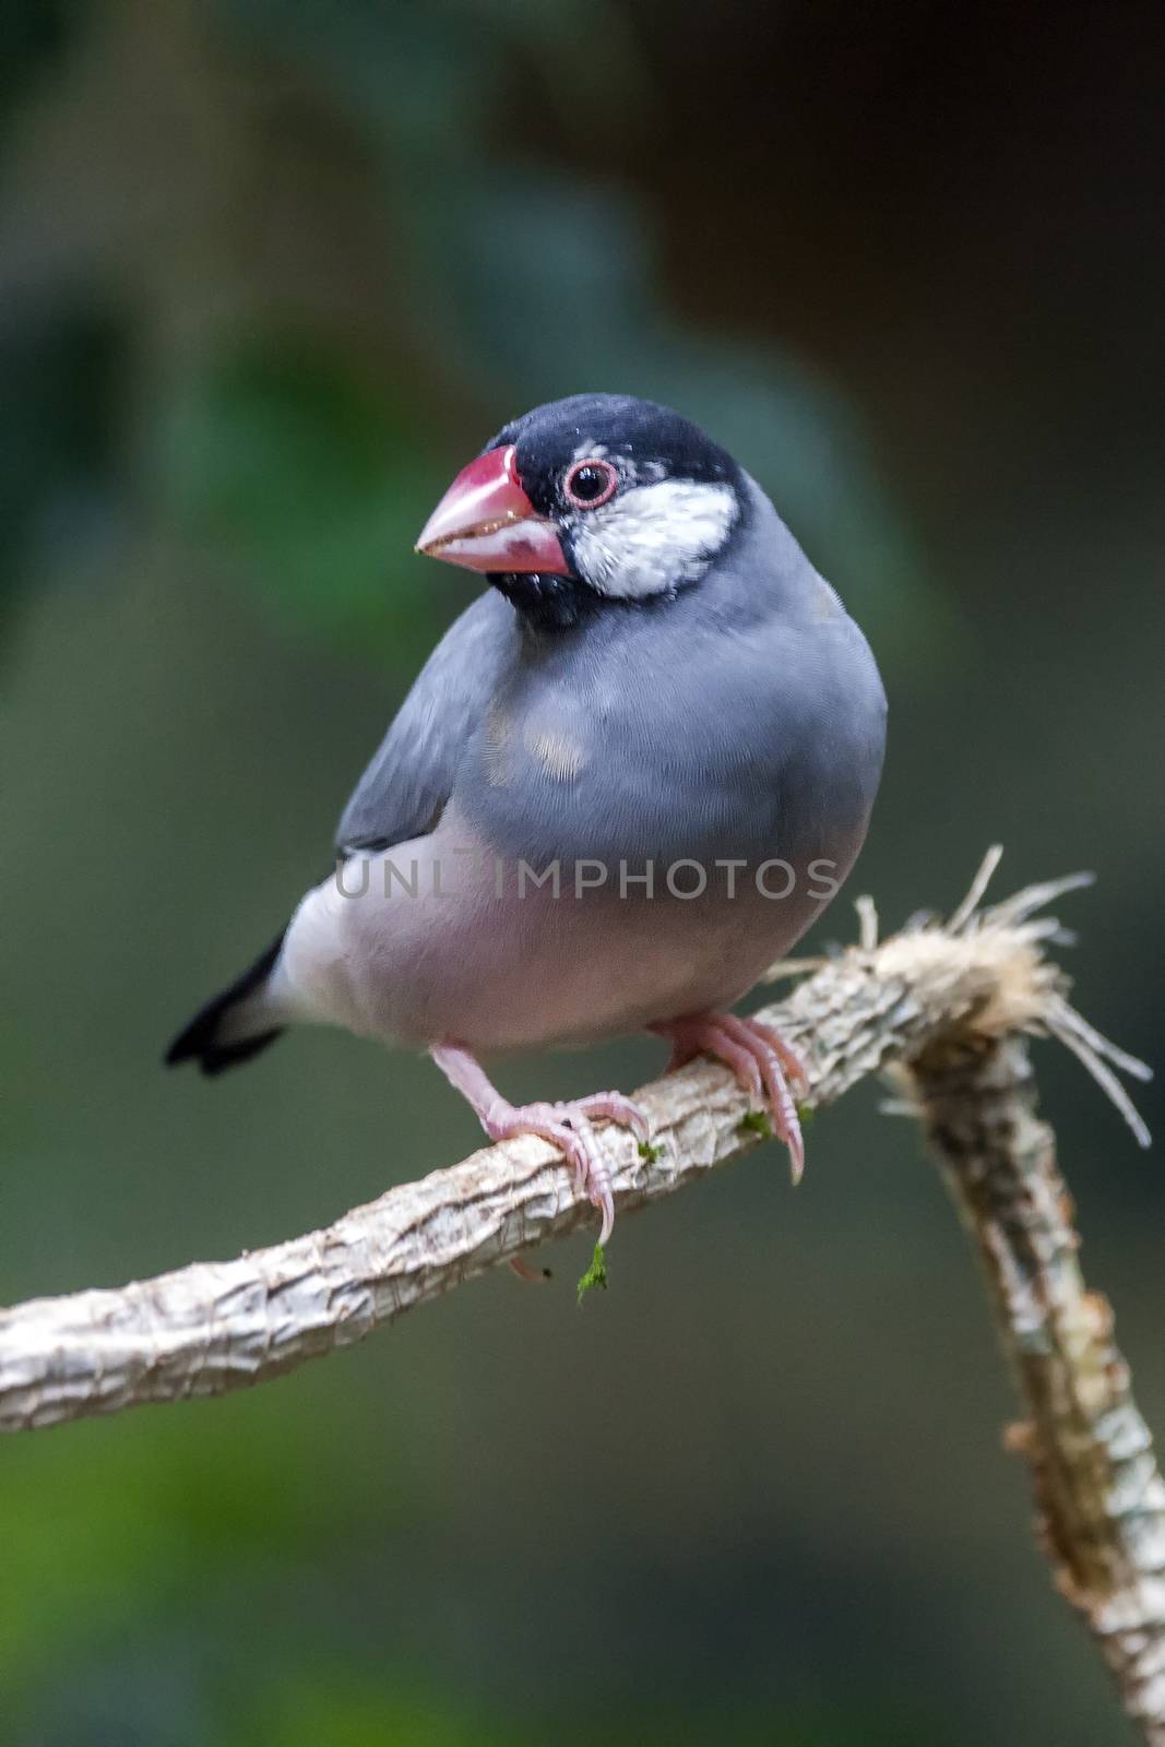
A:
[[[667,400],[769,486],[891,694],[817,940],[1093,867],[1088,1015],[1158,1055],[1156,5],[0,9],[0,1296],[293,1235],[479,1136],[180,1020],[327,861],[465,578],[412,535],[529,404]],[[1165,1427],[1162,1170],[1037,1046]],[[634,1043],[503,1069],[559,1095]],[[863,1087],[620,1225],[225,1401],[0,1448],[19,1747],[1125,1738],[1031,1546],[973,1263]],[[1160,1094],[1144,1109],[1153,1122]],[[1162,1113],[1156,1109],[1158,1127]]]

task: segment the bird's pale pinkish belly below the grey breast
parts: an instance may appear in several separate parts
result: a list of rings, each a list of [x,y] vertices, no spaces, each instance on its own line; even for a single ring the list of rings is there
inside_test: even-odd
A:
[[[830,898],[809,877],[774,894],[781,872],[760,887],[739,874],[728,896],[714,870],[692,900],[667,893],[664,870],[651,898],[632,880],[620,894],[618,870],[582,891],[562,872],[555,896],[452,847],[438,832],[349,863],[341,891],[327,880],[309,894],[286,954],[300,1017],[482,1052],[597,1041],[734,1003]],[[681,887],[697,879],[676,874]]]

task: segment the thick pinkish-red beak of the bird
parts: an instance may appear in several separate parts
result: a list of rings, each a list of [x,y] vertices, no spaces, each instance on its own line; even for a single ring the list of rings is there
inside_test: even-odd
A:
[[[508,449],[489,449],[463,466],[417,540],[417,552],[480,571],[547,571],[569,566],[554,522],[534,514]]]

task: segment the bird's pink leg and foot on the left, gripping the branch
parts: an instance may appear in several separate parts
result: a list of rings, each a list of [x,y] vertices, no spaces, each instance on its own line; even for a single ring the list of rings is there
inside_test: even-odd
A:
[[[456,1043],[435,1043],[430,1055],[451,1085],[473,1106],[491,1141],[512,1141],[517,1134],[538,1134],[559,1146],[582,1190],[603,1216],[599,1242],[606,1244],[615,1225],[611,1167],[596,1137],[594,1122],[613,1122],[631,1129],[646,1146],[651,1139],[648,1120],[622,1092],[592,1092],[564,1104],[510,1104],[487,1078],[484,1067]]]

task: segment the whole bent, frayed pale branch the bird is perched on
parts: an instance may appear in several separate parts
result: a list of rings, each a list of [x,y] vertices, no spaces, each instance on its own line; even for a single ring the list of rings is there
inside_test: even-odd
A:
[[[1085,1289],[1022,1038],[1065,1043],[1142,1144],[1114,1069],[1148,1069],[1069,1006],[1064,973],[1044,956],[1065,936],[1037,912],[1083,877],[980,910],[996,861],[992,851],[947,924],[915,919],[882,943],[873,905],[859,900],[859,943],[763,1017],[805,1055],[810,1108],[891,1071],[924,1118],[985,1261],[1027,1413],[1011,1445],[1032,1462],[1057,1585],[1099,1639],[1144,1738],[1165,1747],[1165,1485],[1109,1307]],[[638,1097],[658,1157],[601,1130],[620,1216],[758,1144],[723,1067],[695,1062]],[[561,1157],[520,1139],[236,1261],[17,1305],[0,1312],[0,1431],[264,1382],[592,1219]]]

